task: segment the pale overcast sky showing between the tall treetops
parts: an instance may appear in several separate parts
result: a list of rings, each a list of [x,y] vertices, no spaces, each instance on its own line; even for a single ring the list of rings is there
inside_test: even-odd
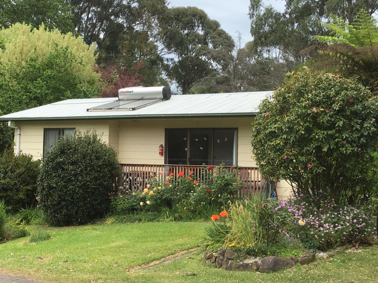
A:
[[[249,32],[251,21],[248,17],[250,0],[169,0],[170,6],[195,6],[204,10],[212,20],[217,20],[221,27],[231,36],[242,34],[243,42],[252,40]],[[277,10],[283,11],[282,0],[265,0],[266,5],[273,5]]]

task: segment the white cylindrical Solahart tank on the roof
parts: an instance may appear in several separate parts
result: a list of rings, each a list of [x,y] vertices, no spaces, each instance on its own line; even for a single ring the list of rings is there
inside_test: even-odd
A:
[[[119,100],[125,99],[163,99],[168,100],[171,97],[169,86],[152,86],[133,88],[121,88],[118,91]]]

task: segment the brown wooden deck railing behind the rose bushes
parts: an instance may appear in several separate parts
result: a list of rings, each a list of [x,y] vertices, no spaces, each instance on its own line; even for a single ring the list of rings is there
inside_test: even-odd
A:
[[[228,172],[235,171],[235,174],[238,175],[239,180],[242,182],[240,196],[261,191],[263,179],[257,167],[239,166],[235,168],[225,166],[225,169]],[[208,170],[208,166],[121,164],[122,174],[118,178],[118,191],[121,194],[142,191],[146,188],[147,183],[152,181],[154,177],[156,177],[157,181],[165,181],[165,177],[171,172],[174,176],[177,176],[178,172],[183,172],[185,175],[188,175],[189,171],[193,171],[196,180],[206,182],[206,180],[204,180],[206,174],[203,174],[205,170]],[[219,167],[212,166],[211,170],[216,174]]]

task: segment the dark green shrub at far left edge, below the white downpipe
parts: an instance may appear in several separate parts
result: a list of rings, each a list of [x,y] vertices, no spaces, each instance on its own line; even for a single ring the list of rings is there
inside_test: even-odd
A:
[[[0,201],[12,210],[29,207],[36,203],[37,180],[40,160],[32,155],[14,155],[6,149],[0,157]]]

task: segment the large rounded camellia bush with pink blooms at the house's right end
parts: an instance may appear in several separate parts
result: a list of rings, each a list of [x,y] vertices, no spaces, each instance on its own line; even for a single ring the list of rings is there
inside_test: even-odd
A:
[[[287,180],[294,194],[350,205],[367,199],[377,109],[378,98],[354,78],[307,69],[288,75],[253,122],[260,172]]]

